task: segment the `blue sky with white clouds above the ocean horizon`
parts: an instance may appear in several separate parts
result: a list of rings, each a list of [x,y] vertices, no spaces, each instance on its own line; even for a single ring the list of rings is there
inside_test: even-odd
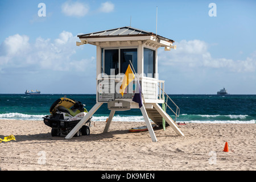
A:
[[[156,6],[158,34],[177,45],[158,51],[167,93],[256,94],[256,1],[207,0],[1,0],[0,93],[96,93],[96,47],[77,47],[77,35],[130,26],[130,17],[156,32]]]

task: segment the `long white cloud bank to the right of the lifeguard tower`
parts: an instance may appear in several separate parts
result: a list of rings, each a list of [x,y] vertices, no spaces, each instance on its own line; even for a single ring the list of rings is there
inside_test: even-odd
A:
[[[201,40],[181,40],[175,43],[177,49],[159,51],[160,65],[172,65],[179,69],[214,68],[231,72],[255,72],[256,56],[251,54],[245,60],[214,58],[208,51],[208,44]]]

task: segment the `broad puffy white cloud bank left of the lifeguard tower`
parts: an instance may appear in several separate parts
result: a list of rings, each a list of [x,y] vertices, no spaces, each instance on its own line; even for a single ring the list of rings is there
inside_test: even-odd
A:
[[[63,31],[59,38],[43,39],[37,38],[34,43],[29,43],[26,35],[13,35],[6,38],[1,44],[0,65],[1,72],[6,69],[24,68],[26,71],[90,71],[96,60],[91,59],[74,60],[78,49],[76,46],[77,36],[71,32]],[[92,70],[92,69],[91,69]],[[94,70],[92,70],[94,71]]]

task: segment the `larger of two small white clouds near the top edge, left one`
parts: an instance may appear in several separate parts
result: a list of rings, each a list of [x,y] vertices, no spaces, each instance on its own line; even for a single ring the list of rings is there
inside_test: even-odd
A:
[[[89,11],[89,6],[81,2],[65,2],[61,6],[62,12],[67,16],[85,16]]]

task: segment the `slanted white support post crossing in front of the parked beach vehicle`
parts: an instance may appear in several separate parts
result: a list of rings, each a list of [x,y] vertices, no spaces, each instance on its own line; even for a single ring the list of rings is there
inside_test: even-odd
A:
[[[98,108],[100,108],[102,104],[103,102],[97,102],[92,107],[92,109],[90,109],[90,111],[85,115],[85,117],[82,118],[79,123],[77,123],[77,125],[71,130],[71,132],[68,133],[65,139],[71,139],[77,133],[77,131],[81,129],[82,125],[84,125],[84,123],[88,121],[90,117],[92,117],[92,115],[98,110]]]

